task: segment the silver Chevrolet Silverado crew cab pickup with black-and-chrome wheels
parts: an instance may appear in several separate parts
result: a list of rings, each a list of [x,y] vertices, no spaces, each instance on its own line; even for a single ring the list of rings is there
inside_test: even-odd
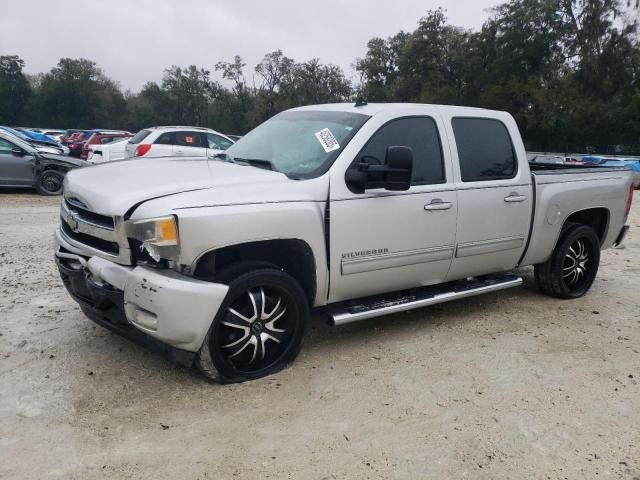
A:
[[[513,118],[334,104],[266,121],[212,158],[103,164],[65,180],[55,258],[97,323],[225,382],[333,325],[515,287],[589,290],[620,244],[624,168],[529,165]]]

